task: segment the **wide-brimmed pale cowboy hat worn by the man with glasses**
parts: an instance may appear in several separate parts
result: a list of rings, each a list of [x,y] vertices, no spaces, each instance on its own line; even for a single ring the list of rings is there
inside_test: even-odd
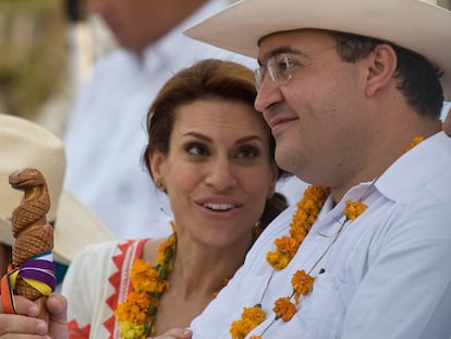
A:
[[[391,41],[435,62],[451,99],[451,12],[434,0],[241,0],[188,28],[194,39],[256,58],[271,33],[317,28]]]

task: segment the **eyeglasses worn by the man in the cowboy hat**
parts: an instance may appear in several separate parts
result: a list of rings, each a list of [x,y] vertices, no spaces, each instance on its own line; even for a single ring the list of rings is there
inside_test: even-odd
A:
[[[266,73],[269,72],[272,83],[276,86],[287,84],[292,77],[292,70],[295,63],[284,53],[272,56],[266,62],[254,71],[255,87],[257,90],[261,87]]]

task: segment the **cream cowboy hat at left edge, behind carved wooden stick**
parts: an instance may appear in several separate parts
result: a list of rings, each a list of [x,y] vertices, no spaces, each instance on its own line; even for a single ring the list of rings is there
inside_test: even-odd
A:
[[[50,194],[47,221],[54,221],[54,261],[69,264],[85,245],[113,239],[96,216],[62,189],[65,154],[61,140],[28,120],[0,113],[1,243],[13,244],[11,215],[24,195],[11,187],[9,175],[27,167],[38,169],[47,181]]]

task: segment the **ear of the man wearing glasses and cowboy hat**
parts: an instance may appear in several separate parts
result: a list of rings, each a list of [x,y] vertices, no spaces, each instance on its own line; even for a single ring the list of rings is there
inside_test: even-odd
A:
[[[371,97],[393,81],[398,58],[390,45],[379,44],[366,58],[366,61],[368,73],[365,94]]]

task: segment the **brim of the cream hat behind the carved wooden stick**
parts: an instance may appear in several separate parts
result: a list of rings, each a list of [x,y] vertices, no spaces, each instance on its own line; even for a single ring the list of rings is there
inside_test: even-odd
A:
[[[7,245],[14,243],[11,222],[0,218],[0,239]],[[113,240],[111,231],[70,192],[60,196],[53,228],[53,259],[69,265],[76,253],[93,243]]]

